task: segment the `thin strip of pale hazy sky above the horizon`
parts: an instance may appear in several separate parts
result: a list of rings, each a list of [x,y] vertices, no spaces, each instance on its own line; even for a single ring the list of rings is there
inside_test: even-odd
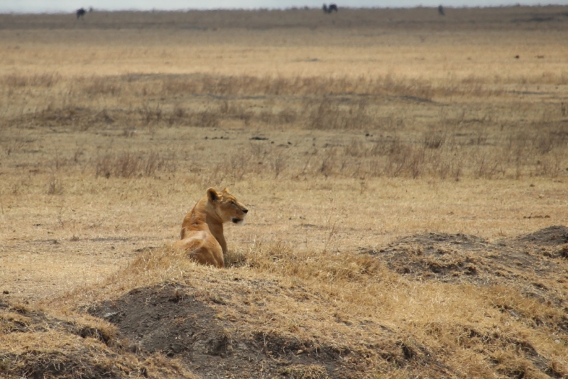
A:
[[[118,10],[178,10],[178,9],[255,9],[290,8],[292,6],[320,7],[336,3],[350,7],[397,8],[412,6],[501,6],[551,4],[538,0],[0,0],[0,13],[72,12],[92,6],[107,11]],[[568,0],[553,0],[552,4],[567,5]]]

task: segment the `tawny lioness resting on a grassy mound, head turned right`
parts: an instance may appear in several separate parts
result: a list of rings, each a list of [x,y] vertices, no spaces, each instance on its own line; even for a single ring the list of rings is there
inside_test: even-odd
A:
[[[173,247],[190,251],[190,256],[204,265],[224,267],[226,242],[223,236],[223,223],[239,224],[249,209],[241,204],[228,189],[217,192],[207,189],[192,211],[185,216],[182,224],[181,241]]]

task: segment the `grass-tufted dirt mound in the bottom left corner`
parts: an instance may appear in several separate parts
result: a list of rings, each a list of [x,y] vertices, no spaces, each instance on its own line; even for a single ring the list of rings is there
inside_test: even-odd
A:
[[[60,319],[3,302],[0,377],[155,378],[148,369],[155,366],[155,358],[124,351],[115,337],[111,326],[92,317]],[[160,366],[178,369],[170,362]]]

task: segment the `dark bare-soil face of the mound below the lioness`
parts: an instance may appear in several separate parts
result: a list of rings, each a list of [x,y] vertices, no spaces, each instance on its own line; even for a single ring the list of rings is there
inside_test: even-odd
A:
[[[202,378],[253,378],[260,373],[325,378],[354,373],[354,367],[342,367],[344,357],[352,355],[349,349],[247,331],[243,325],[227,328],[195,292],[179,284],[138,288],[87,312],[115,324],[133,350],[179,358]]]

